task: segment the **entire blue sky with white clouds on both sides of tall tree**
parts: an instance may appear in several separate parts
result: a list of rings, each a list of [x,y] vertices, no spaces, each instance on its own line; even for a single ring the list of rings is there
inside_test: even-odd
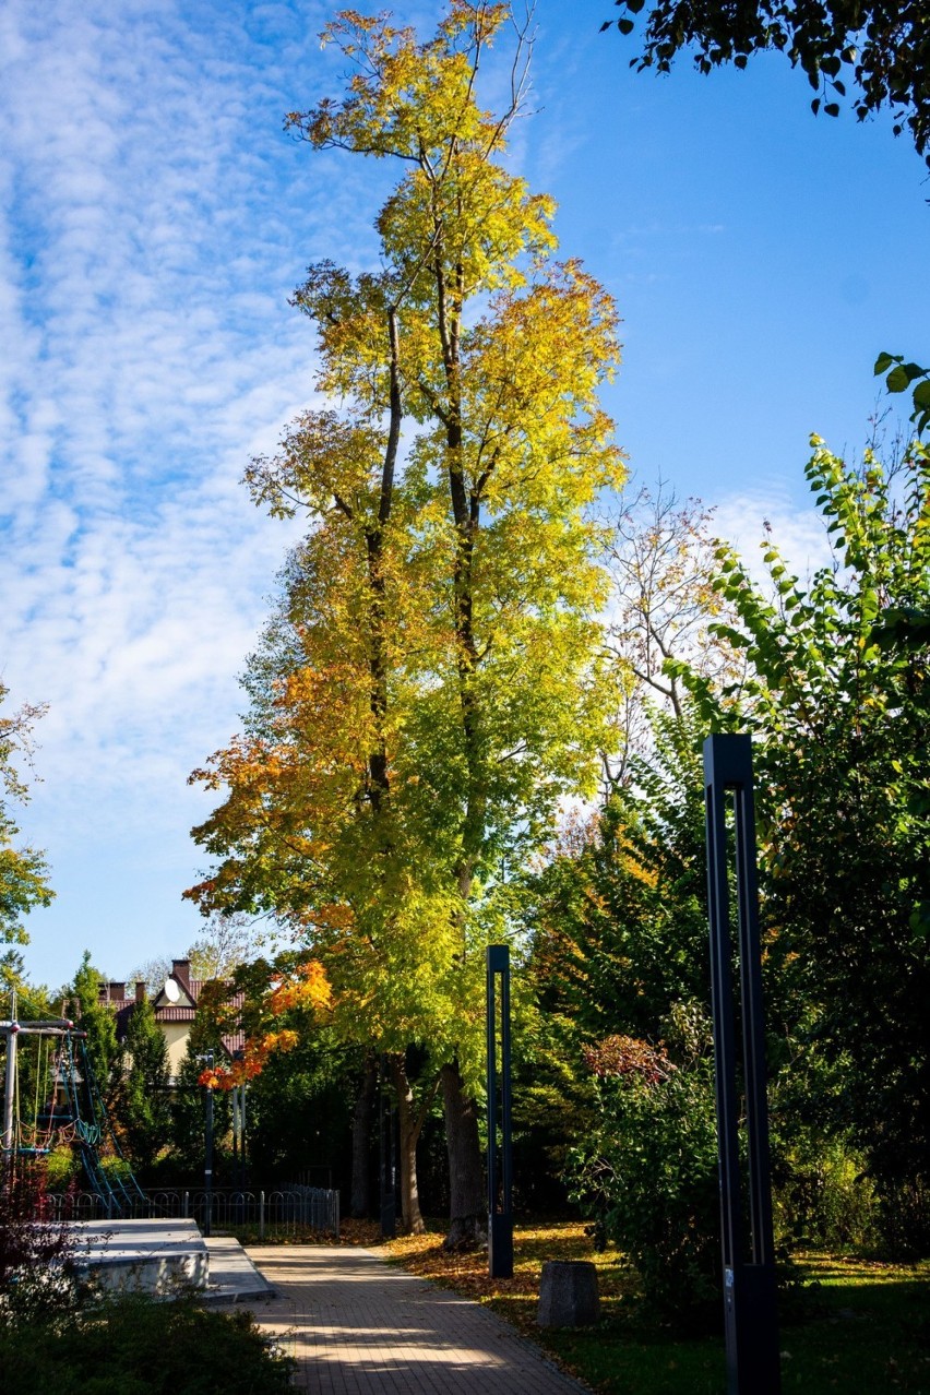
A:
[[[607,406],[637,481],[768,518],[803,566],[807,437],[855,452],[876,354],[930,353],[930,184],[890,121],[809,112],[779,57],[700,78],[627,68],[609,0],[540,0],[534,114],[512,160],[566,255],[615,294]],[[374,254],[390,172],[317,153],[287,110],[339,92],[330,7],[7,0],[0,13],[0,675],[47,702],[24,834],[57,900],[29,972],[121,978],[180,954],[236,675],[293,526],[238,484],[312,399],[304,268]],[[438,7],[397,6],[431,32]],[[491,103],[503,68],[485,75]],[[923,357],[922,357],[923,356]]]

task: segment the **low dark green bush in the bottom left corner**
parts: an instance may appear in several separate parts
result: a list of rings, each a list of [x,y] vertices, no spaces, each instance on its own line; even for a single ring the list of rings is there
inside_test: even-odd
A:
[[[156,1302],[106,1297],[67,1324],[24,1321],[0,1329],[6,1389],[56,1395],[279,1395],[293,1362],[251,1313],[204,1309],[194,1296]]]

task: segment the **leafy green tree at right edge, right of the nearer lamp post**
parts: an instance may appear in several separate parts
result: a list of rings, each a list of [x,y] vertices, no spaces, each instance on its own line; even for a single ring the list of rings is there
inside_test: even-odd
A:
[[[802,585],[767,543],[767,594],[721,547],[747,677],[692,689],[708,725],[756,735],[765,953],[779,1031],[805,1043],[796,1080],[821,1084],[825,1063],[832,1131],[866,1155],[888,1216],[912,1198],[926,1247],[930,689],[909,618],[930,612],[930,458],[915,445],[890,480],[816,442],[807,477],[837,565]]]

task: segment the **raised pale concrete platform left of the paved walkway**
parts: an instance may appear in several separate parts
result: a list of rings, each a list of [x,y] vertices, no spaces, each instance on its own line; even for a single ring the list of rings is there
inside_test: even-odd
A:
[[[209,1253],[195,1221],[75,1221],[75,1260],[107,1289],[206,1289]]]

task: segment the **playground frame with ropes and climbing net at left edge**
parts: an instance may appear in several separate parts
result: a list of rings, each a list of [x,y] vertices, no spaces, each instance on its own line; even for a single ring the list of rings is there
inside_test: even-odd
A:
[[[60,1144],[77,1145],[91,1191],[109,1216],[128,1216],[145,1200],[110,1123],[86,1049],[86,1032],[67,1017],[18,1021],[15,993],[0,1021],[6,1041],[3,1089],[4,1169],[47,1156]],[[20,1096],[20,1052],[35,1039],[35,1091],[31,1119]]]

